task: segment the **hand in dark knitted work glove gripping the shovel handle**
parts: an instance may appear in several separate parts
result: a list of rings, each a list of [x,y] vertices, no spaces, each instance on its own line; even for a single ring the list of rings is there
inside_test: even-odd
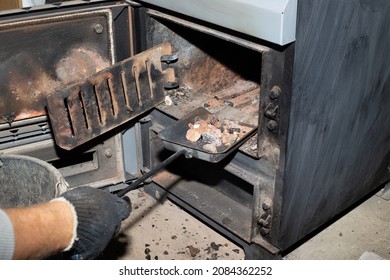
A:
[[[79,187],[61,195],[77,216],[77,236],[70,249],[72,259],[94,259],[119,232],[131,212],[130,200],[92,187]]]

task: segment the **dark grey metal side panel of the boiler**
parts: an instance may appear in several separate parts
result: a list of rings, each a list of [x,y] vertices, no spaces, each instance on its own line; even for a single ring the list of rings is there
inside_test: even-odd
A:
[[[297,22],[282,248],[390,173],[390,2],[301,0]]]

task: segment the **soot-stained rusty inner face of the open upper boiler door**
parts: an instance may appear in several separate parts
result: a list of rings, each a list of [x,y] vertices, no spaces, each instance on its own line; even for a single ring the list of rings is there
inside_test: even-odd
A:
[[[49,94],[111,65],[110,21],[110,10],[0,18],[0,123],[46,115]]]

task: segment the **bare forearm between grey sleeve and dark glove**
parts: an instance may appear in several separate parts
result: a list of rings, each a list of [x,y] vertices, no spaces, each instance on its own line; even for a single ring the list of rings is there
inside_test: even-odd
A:
[[[72,240],[74,216],[63,201],[5,212],[14,227],[14,259],[45,258],[65,249]]]

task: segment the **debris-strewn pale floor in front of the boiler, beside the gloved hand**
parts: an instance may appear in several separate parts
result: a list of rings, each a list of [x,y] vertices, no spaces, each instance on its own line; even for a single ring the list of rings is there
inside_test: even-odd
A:
[[[120,235],[100,259],[242,260],[243,250],[194,219],[171,201],[155,201],[143,189],[128,194],[133,202]]]

